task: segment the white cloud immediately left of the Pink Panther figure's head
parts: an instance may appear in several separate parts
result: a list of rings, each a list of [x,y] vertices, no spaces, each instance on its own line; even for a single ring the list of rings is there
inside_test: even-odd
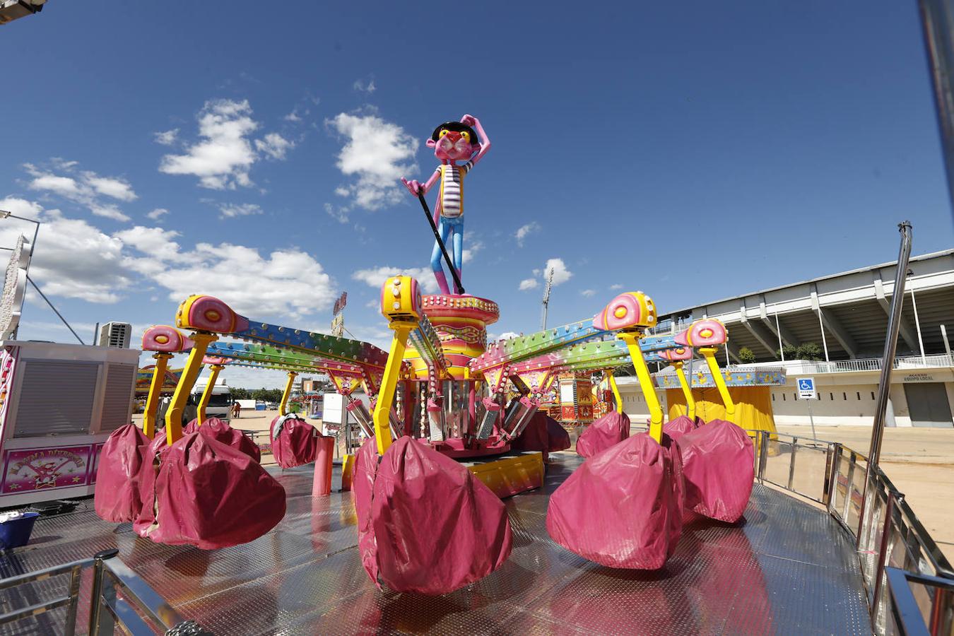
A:
[[[325,124],[344,139],[338,169],[355,179],[335,190],[350,201],[330,214],[346,216],[353,206],[379,210],[400,201],[404,192],[401,177],[418,169],[414,162],[418,140],[375,114],[339,113]]]

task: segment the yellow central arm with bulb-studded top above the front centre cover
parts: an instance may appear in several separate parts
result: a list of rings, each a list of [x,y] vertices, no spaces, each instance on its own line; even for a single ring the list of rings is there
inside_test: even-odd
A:
[[[417,280],[408,276],[390,277],[384,281],[381,289],[381,313],[388,320],[388,327],[394,331],[391,349],[384,366],[384,378],[381,392],[374,405],[374,435],[378,442],[378,453],[384,455],[391,445],[389,417],[394,393],[398,387],[398,378],[404,364],[404,350],[407,338],[418,328],[424,312],[421,310],[421,290]]]

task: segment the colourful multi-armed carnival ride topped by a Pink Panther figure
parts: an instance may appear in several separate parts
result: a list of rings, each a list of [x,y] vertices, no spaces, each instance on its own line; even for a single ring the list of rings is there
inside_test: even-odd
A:
[[[557,543],[597,563],[655,569],[678,541],[683,504],[722,521],[741,516],[753,484],[753,443],[728,421],[696,429],[701,422],[681,368],[694,351],[705,359],[731,418],[735,405],[716,363],[717,347],[728,337],[725,327],[707,318],[680,333],[649,335],[656,326],[653,299],[628,292],[594,317],[487,344],[487,326],[499,318],[499,308],[463,293],[461,237],[464,178],[487,153],[489,141],[479,120],[465,115],[439,126],[427,145],[441,162],[438,169],[424,184],[404,180],[404,185],[420,198],[434,231],[431,264],[444,293],[423,295],[408,276],[384,281],[381,312],[393,333],[386,352],[356,339],[241,316],[216,297],[188,297],[176,312],[175,327],[156,326],[143,337],[143,349],[156,352],[143,430],[124,427],[106,444],[103,456],[114,462],[100,468],[99,481],[111,487],[101,487],[96,497],[104,518],[134,521],[136,532],[154,541],[201,547],[250,541],[279,523],[283,508],[267,502],[278,482],[249,460],[254,453],[236,452],[244,450],[242,436],[205,418],[211,387],[230,364],[288,374],[280,421],[271,432],[273,447],[285,436],[300,438],[292,445],[301,452],[282,459],[287,466],[315,461],[309,439],[321,437],[304,421],[285,425],[293,380],[314,371],[333,380],[367,440],[357,458],[344,458],[342,475],[345,485],[354,482],[364,568],[377,585],[395,591],[443,594],[506,561],[512,536],[499,498],[543,485],[544,452],[552,444],[545,433],[541,438],[547,424],[538,411],[561,376],[605,374],[616,412],[590,425],[587,441],[581,440],[590,459],[550,498],[548,529]],[[438,184],[432,216],[424,195]],[[448,237],[453,259],[444,244]],[[442,255],[456,294],[449,291]],[[186,352],[164,430],[157,435],[167,360]],[[688,423],[664,422],[647,360],[673,363]],[[612,376],[630,364],[651,414],[649,431],[633,437]],[[211,378],[197,420],[183,429],[183,409],[203,365],[210,367]],[[371,398],[370,409],[352,397],[359,387]],[[531,422],[537,441],[528,446]],[[612,465],[588,470],[603,466],[608,454],[615,458]],[[121,465],[124,461],[128,465]],[[714,462],[718,465],[709,465]],[[236,495],[239,482],[244,487]],[[621,506],[613,499],[626,483],[634,488],[633,505]],[[197,494],[203,491],[224,494],[216,506],[205,508]],[[215,528],[228,512],[244,522],[242,532]],[[435,527],[439,536],[431,534]],[[454,549],[434,550],[435,542]],[[403,547],[395,552],[398,544]]]

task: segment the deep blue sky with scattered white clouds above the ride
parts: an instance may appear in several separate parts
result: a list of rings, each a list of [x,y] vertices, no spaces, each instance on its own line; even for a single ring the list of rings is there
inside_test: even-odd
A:
[[[954,244],[912,3],[403,7],[51,0],[5,26],[0,207],[44,221],[31,277],[84,337],[190,293],[326,329],[346,290],[384,343],[383,277],[432,281],[398,178],[464,113],[493,142],[464,275],[492,334],[538,328],[549,261],[558,324],[618,285],[665,312],[890,260],[902,218],[916,254]],[[70,341],[37,300],[21,338]]]

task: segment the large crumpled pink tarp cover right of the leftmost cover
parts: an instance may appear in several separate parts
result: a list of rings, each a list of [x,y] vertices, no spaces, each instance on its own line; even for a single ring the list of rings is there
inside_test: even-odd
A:
[[[143,507],[133,529],[161,544],[215,549],[258,539],[281,521],[285,492],[247,453],[202,425],[172,446],[154,441],[159,470],[145,470]]]

